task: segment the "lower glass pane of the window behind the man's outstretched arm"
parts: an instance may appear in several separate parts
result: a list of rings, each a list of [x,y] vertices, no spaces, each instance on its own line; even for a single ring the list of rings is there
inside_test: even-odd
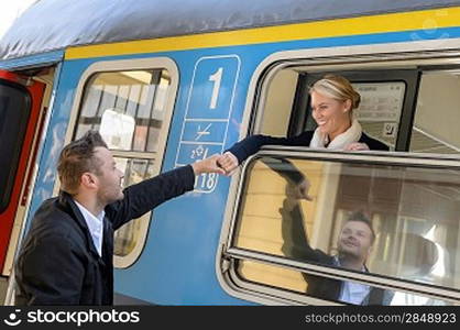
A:
[[[114,157],[117,167],[124,173],[123,186],[128,187],[154,176],[153,161],[139,158]],[[136,219],[128,222],[116,231],[113,253],[116,255],[128,255],[140,241],[142,234],[141,221]]]

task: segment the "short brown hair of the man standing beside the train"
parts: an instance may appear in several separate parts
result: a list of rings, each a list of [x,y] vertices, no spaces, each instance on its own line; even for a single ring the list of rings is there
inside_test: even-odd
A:
[[[84,173],[99,174],[101,164],[94,156],[98,146],[107,147],[107,144],[98,131],[90,130],[63,148],[57,162],[61,190],[75,195]]]

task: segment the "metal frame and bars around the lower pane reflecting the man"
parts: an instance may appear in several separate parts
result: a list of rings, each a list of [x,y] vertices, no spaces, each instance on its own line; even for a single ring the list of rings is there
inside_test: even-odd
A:
[[[429,157],[424,154],[408,154],[408,153],[390,153],[390,152],[361,152],[361,153],[341,153],[341,152],[329,152],[329,151],[305,151],[302,147],[283,147],[283,146],[269,146],[267,150],[263,148],[258,153],[256,156],[251,156],[245,165],[243,166],[243,176],[247,176],[248,164],[251,160],[254,160],[259,156],[293,156],[306,160],[315,161],[344,161],[347,163],[357,163],[357,162],[372,162],[373,164],[383,164],[383,165],[403,165],[403,166],[426,166],[426,167],[437,167],[437,168],[451,168],[460,170],[460,160],[456,155],[447,155],[439,157]],[[241,196],[243,189],[243,180],[239,184],[238,195]],[[236,210],[239,209],[239,205],[242,201],[240,198],[236,205]],[[232,223],[229,228],[229,235],[226,242],[227,246],[231,245],[231,239],[233,238],[233,232],[236,230],[236,220],[238,212],[236,211],[232,218]],[[408,294],[420,294],[427,297],[432,297],[435,299],[442,299],[446,301],[451,301],[453,304],[460,304],[460,292],[458,289],[449,289],[439,287],[430,284],[416,283],[407,279],[397,279],[395,277],[380,276],[379,274],[368,274],[368,273],[354,273],[347,270],[337,270],[328,266],[321,266],[294,260],[288,260],[283,256],[269,255],[263,252],[248,251],[238,246],[230,246],[223,252],[227,257],[234,257],[238,260],[248,260],[255,261],[273,266],[278,266],[286,270],[293,270],[297,272],[305,272],[308,274],[319,275],[327,278],[336,278],[343,280],[353,280],[355,283],[371,285],[373,287],[390,289],[395,292],[404,292]],[[229,264],[232,264],[230,261]],[[266,295],[276,295],[277,298],[283,298],[286,304],[337,304],[336,301],[329,301],[326,299],[317,299],[315,297],[305,296],[302,294],[289,293],[287,289],[277,289],[263,284],[254,284],[245,282],[242,278],[239,278],[234,267],[229,265],[226,266],[230,274],[227,274],[227,280],[233,283],[233,286],[248,292],[259,292],[260,294]],[[273,304],[273,301],[271,301]]]

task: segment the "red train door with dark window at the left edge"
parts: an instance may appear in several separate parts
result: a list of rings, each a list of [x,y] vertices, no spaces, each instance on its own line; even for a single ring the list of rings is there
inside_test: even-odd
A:
[[[39,127],[45,85],[0,70],[0,270],[3,270],[14,218],[25,206],[28,164]]]

